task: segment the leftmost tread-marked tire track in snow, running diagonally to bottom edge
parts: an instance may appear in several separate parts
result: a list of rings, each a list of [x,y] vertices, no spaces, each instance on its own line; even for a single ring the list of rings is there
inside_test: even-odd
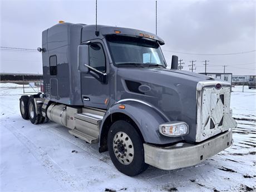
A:
[[[4,126],[8,129],[12,134],[24,145],[27,147],[31,154],[45,167],[45,169],[50,173],[53,178],[60,184],[63,191],[73,191],[73,190],[81,190],[81,188],[77,188],[77,182],[75,178],[72,178],[71,175],[60,168],[55,161],[51,159],[47,152],[43,151],[34,144],[30,139],[28,139],[21,131],[12,125]]]

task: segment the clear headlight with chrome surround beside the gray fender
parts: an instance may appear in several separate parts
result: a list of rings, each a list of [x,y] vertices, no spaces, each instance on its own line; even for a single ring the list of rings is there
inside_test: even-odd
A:
[[[172,121],[159,125],[161,134],[169,137],[183,136],[189,133],[189,126],[182,121]]]

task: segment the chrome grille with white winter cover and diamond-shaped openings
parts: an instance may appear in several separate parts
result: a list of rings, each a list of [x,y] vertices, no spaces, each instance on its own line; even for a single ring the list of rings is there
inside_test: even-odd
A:
[[[220,83],[221,88],[215,85]],[[197,86],[196,141],[235,127],[230,114],[230,84],[219,81],[201,81]]]

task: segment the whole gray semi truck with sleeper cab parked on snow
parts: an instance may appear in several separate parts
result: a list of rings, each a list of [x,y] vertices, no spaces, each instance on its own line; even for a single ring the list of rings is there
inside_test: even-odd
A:
[[[230,84],[171,68],[164,41],[137,29],[58,23],[42,32],[43,86],[23,119],[51,120],[134,176],[196,165],[233,143]]]

